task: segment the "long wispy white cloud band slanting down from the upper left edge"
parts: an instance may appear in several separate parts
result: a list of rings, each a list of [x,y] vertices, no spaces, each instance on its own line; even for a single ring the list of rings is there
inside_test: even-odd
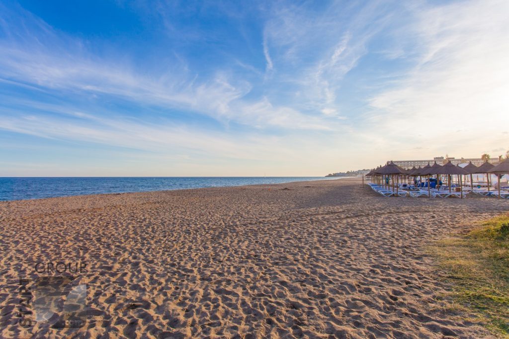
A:
[[[118,64],[113,60],[94,57],[82,48],[84,42],[68,41],[44,22],[36,21],[33,24],[36,25],[35,31],[44,32],[41,39],[46,43],[39,43],[37,35],[36,38],[29,36],[40,33],[7,28],[7,36],[26,35],[26,40],[23,43],[19,43],[18,39],[0,41],[4,56],[0,61],[0,76],[3,79],[42,89],[113,95],[124,100],[187,109],[214,119],[227,120],[224,122],[232,120],[261,127],[284,122],[284,125],[276,126],[288,129],[299,126],[322,129],[326,126],[296,110],[292,110],[296,118],[294,121],[259,119],[259,114],[251,114],[248,109],[257,101],[242,99],[251,91],[251,84],[241,78],[232,79],[227,71],[217,69],[215,74],[204,80],[198,80],[197,73],[186,72],[181,67],[169,68],[156,77],[147,76],[136,72],[129,62]],[[66,47],[62,49],[64,45]],[[272,68],[270,56],[268,58],[268,68]],[[236,111],[231,109],[233,102]],[[240,115],[239,109],[242,112]],[[306,122],[308,120],[309,123]]]

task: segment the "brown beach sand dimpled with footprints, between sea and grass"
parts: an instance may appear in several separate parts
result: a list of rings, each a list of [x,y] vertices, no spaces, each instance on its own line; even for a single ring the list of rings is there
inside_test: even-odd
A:
[[[508,209],[359,179],[2,202],[0,336],[489,337],[426,246]],[[84,327],[18,324],[37,262],[86,263]]]

